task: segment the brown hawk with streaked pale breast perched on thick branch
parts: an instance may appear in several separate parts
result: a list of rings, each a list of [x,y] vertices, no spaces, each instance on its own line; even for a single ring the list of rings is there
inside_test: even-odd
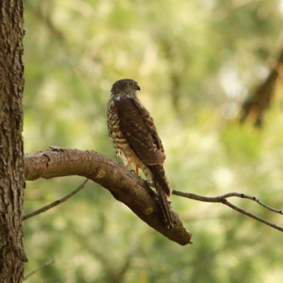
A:
[[[108,132],[116,151],[126,167],[130,163],[144,172],[151,186],[156,188],[165,216],[166,226],[173,228],[170,202],[172,188],[163,163],[166,158],[163,145],[154,125],[154,119],[137,98],[137,81],[121,79],[111,88],[108,102]]]

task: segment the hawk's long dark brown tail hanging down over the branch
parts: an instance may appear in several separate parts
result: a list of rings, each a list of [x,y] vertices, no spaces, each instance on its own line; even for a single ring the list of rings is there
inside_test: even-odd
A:
[[[147,166],[151,171],[154,179],[154,185],[158,195],[159,202],[161,204],[161,209],[164,214],[164,219],[166,221],[168,228],[173,228],[173,218],[171,214],[170,202],[168,197],[171,195],[171,186],[165,175],[165,171],[162,165],[151,165]]]

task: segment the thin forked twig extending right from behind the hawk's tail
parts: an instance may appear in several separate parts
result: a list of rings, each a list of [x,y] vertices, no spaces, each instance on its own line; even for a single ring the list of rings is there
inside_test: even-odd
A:
[[[273,224],[272,222],[267,221],[267,220],[261,218],[260,216],[256,216],[255,214],[247,212],[246,210],[241,209],[240,207],[237,207],[236,205],[231,204],[231,202],[228,202],[226,200],[226,198],[228,198],[228,197],[241,197],[242,199],[248,199],[248,200],[253,200],[255,202],[258,202],[258,204],[260,204],[262,207],[265,207],[265,208],[271,210],[272,212],[276,212],[278,214],[283,214],[282,210],[272,208],[272,207],[268,206],[267,204],[264,204],[263,202],[258,200],[256,197],[252,197],[250,195],[245,195],[245,194],[242,194],[240,192],[229,192],[229,193],[224,194],[224,195],[219,195],[218,197],[204,197],[202,195],[195,195],[195,194],[192,194],[190,192],[180,192],[178,190],[173,190],[172,195],[178,195],[179,197],[187,197],[188,199],[199,200],[200,202],[221,202],[221,203],[226,204],[227,206],[231,207],[232,209],[236,210],[237,212],[245,214],[245,215],[247,215],[247,216],[249,216],[249,217],[251,217],[255,220],[258,220],[258,221],[260,221],[260,222],[262,222],[262,223],[264,223],[264,224],[266,224],[266,225],[268,225],[268,226],[270,226],[274,229],[277,229],[277,230],[283,232],[283,227],[277,226],[276,224]]]

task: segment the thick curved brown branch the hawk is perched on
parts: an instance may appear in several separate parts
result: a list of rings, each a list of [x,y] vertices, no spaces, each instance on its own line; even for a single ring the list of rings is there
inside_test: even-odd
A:
[[[105,187],[116,200],[126,204],[141,220],[171,241],[182,246],[192,243],[192,233],[185,229],[176,212],[172,211],[174,228],[166,228],[154,191],[146,181],[127,171],[122,163],[96,151],[59,147],[52,147],[51,151],[25,155],[25,180],[69,175],[80,175]]]

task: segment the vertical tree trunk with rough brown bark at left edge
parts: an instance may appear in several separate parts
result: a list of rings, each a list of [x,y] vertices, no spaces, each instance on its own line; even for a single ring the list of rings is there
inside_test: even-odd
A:
[[[22,282],[23,0],[0,0],[0,282]]]

